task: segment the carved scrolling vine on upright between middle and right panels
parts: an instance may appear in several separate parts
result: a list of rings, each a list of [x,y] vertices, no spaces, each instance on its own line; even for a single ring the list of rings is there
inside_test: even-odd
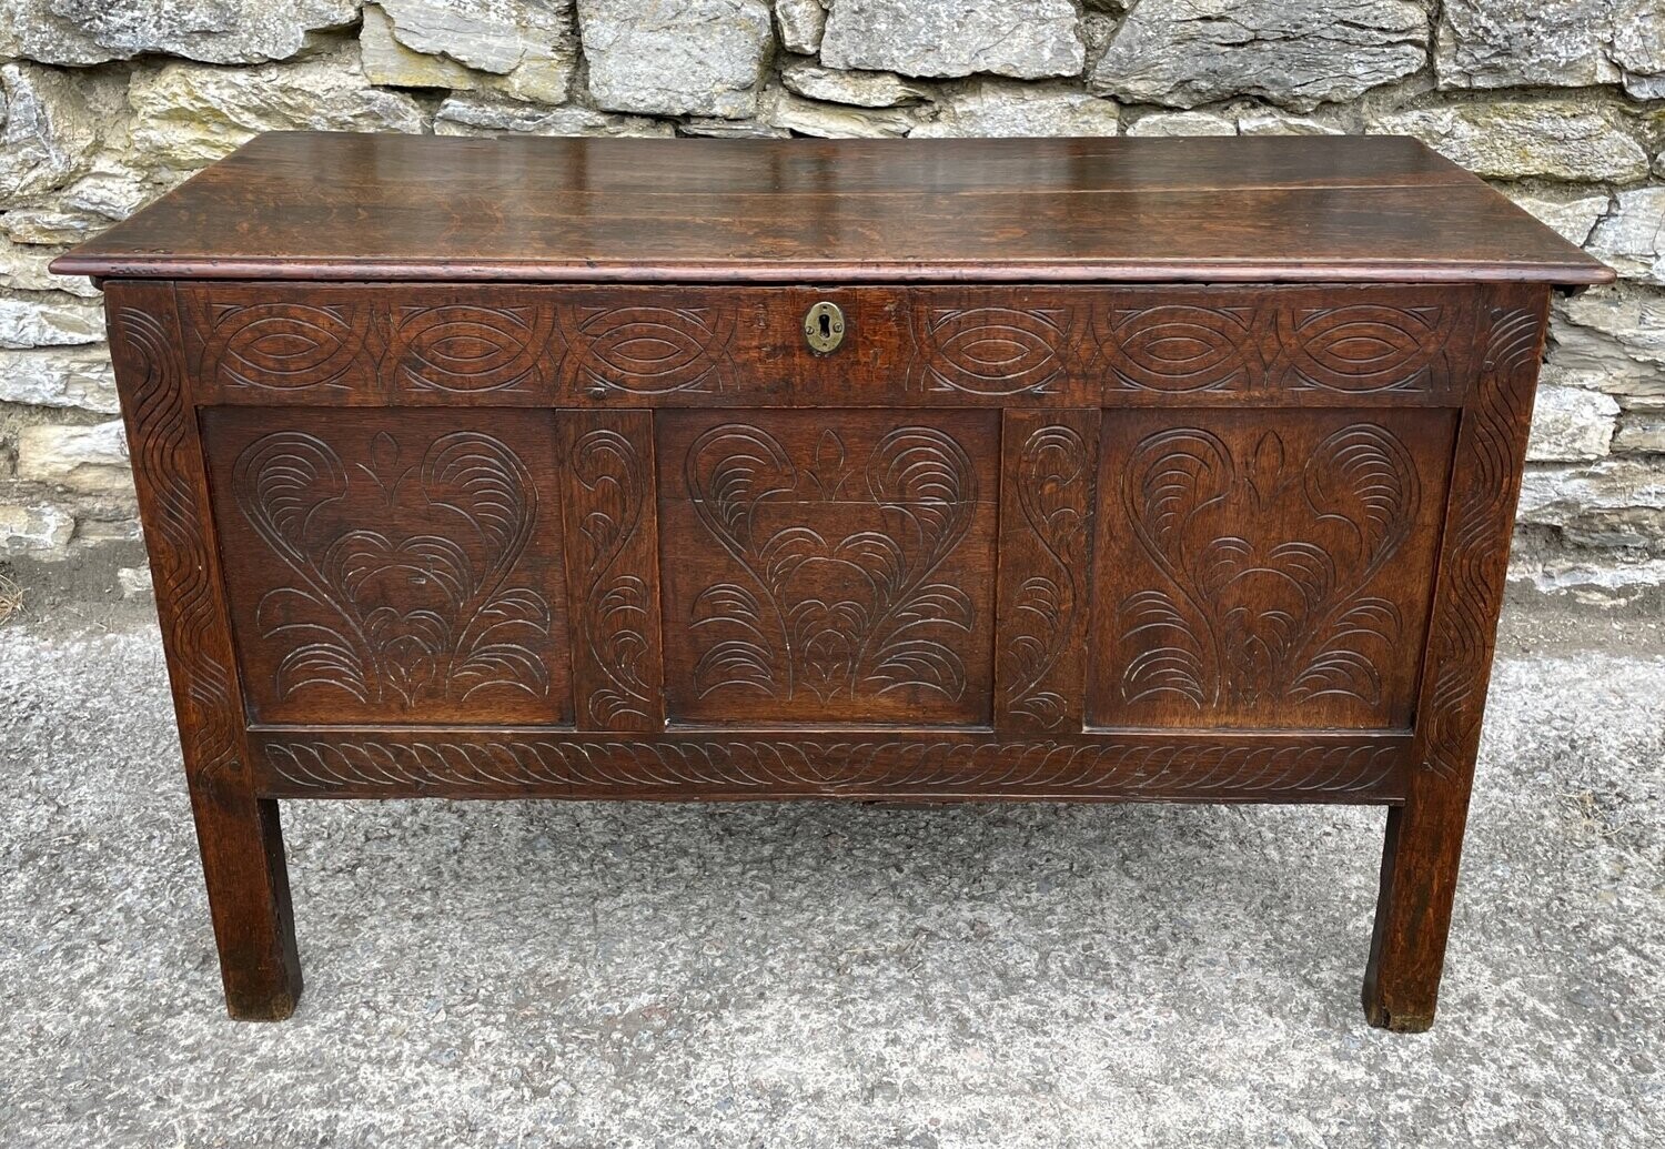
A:
[[[1094,458],[1072,426],[1046,425],[1024,441],[1012,491],[1042,561],[1016,589],[1002,626],[1006,709],[1037,729],[1062,724],[1069,699],[1049,683],[1086,608]]]

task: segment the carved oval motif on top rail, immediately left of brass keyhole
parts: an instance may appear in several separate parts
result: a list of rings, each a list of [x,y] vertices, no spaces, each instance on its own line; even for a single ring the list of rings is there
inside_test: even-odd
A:
[[[561,365],[583,393],[668,395],[733,385],[734,308],[571,306]]]

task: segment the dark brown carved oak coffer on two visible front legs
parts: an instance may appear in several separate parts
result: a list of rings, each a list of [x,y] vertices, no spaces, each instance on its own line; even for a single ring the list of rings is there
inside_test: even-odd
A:
[[[1389,808],[1432,1022],[1553,285],[1399,138],[281,133],[98,276],[226,999],[280,798]]]

